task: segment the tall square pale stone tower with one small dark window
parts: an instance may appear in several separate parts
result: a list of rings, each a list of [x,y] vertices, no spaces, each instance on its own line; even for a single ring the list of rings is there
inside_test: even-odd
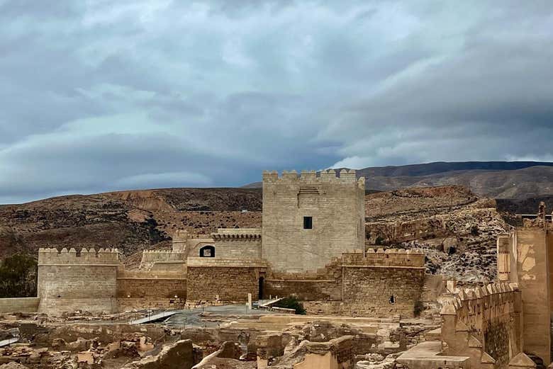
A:
[[[364,249],[364,178],[355,171],[263,174],[262,257],[274,271],[315,271]]]

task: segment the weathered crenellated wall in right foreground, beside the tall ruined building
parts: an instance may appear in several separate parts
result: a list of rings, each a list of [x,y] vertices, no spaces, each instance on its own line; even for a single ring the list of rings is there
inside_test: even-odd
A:
[[[457,290],[441,315],[443,354],[469,356],[471,368],[507,369],[523,352],[522,299],[516,284]]]

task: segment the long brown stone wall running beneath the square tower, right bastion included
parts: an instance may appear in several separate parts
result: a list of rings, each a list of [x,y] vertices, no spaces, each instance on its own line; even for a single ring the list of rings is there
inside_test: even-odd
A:
[[[297,295],[303,301],[339,302],[340,312],[359,316],[412,317],[421,300],[424,254],[416,250],[369,249],[347,253],[313,272],[272,271],[262,259],[188,259],[189,303],[244,302]]]

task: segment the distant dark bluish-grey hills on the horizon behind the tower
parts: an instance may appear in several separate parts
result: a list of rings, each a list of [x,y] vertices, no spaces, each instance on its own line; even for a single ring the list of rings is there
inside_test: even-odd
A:
[[[553,195],[553,163],[539,161],[436,162],[357,170],[369,191],[408,187],[466,186],[476,195],[523,200]],[[259,188],[260,182],[245,188]]]

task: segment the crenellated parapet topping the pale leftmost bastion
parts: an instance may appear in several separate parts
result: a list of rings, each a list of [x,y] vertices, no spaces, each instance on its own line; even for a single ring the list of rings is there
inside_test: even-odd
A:
[[[94,248],[83,248],[78,253],[73,247],[69,250],[64,247],[61,251],[55,248],[38,249],[38,266],[59,264],[113,264],[113,266],[117,266],[118,263],[118,249],[99,249],[96,251]]]

